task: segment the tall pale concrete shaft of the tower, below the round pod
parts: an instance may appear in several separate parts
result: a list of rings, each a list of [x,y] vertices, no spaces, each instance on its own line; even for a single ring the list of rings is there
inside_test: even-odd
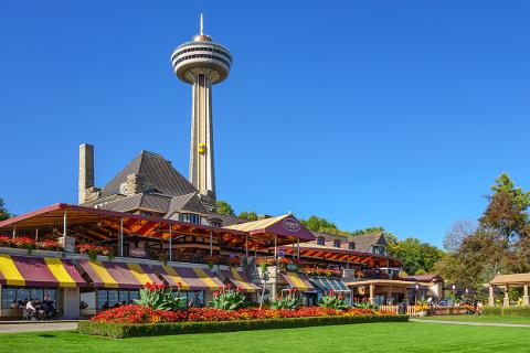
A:
[[[190,181],[215,203],[212,83],[206,72],[193,73],[190,146]]]

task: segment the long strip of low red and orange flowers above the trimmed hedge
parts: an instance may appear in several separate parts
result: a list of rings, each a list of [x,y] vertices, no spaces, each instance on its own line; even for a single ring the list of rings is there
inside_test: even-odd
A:
[[[189,308],[188,310],[163,311],[145,306],[121,306],[102,311],[91,318],[95,322],[114,323],[156,323],[156,322],[209,322],[209,321],[240,321],[264,320],[283,318],[315,318],[315,317],[363,317],[363,315],[394,315],[378,312],[371,309],[336,310],[322,307],[300,307],[289,309],[239,309],[220,310],[215,308]]]

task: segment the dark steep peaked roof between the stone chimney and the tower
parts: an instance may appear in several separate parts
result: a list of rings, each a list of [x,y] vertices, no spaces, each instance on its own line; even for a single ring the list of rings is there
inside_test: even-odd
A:
[[[103,188],[102,197],[120,194],[119,185],[129,174],[145,175],[147,183],[166,195],[181,196],[197,192],[197,189],[162,156],[141,151]]]

